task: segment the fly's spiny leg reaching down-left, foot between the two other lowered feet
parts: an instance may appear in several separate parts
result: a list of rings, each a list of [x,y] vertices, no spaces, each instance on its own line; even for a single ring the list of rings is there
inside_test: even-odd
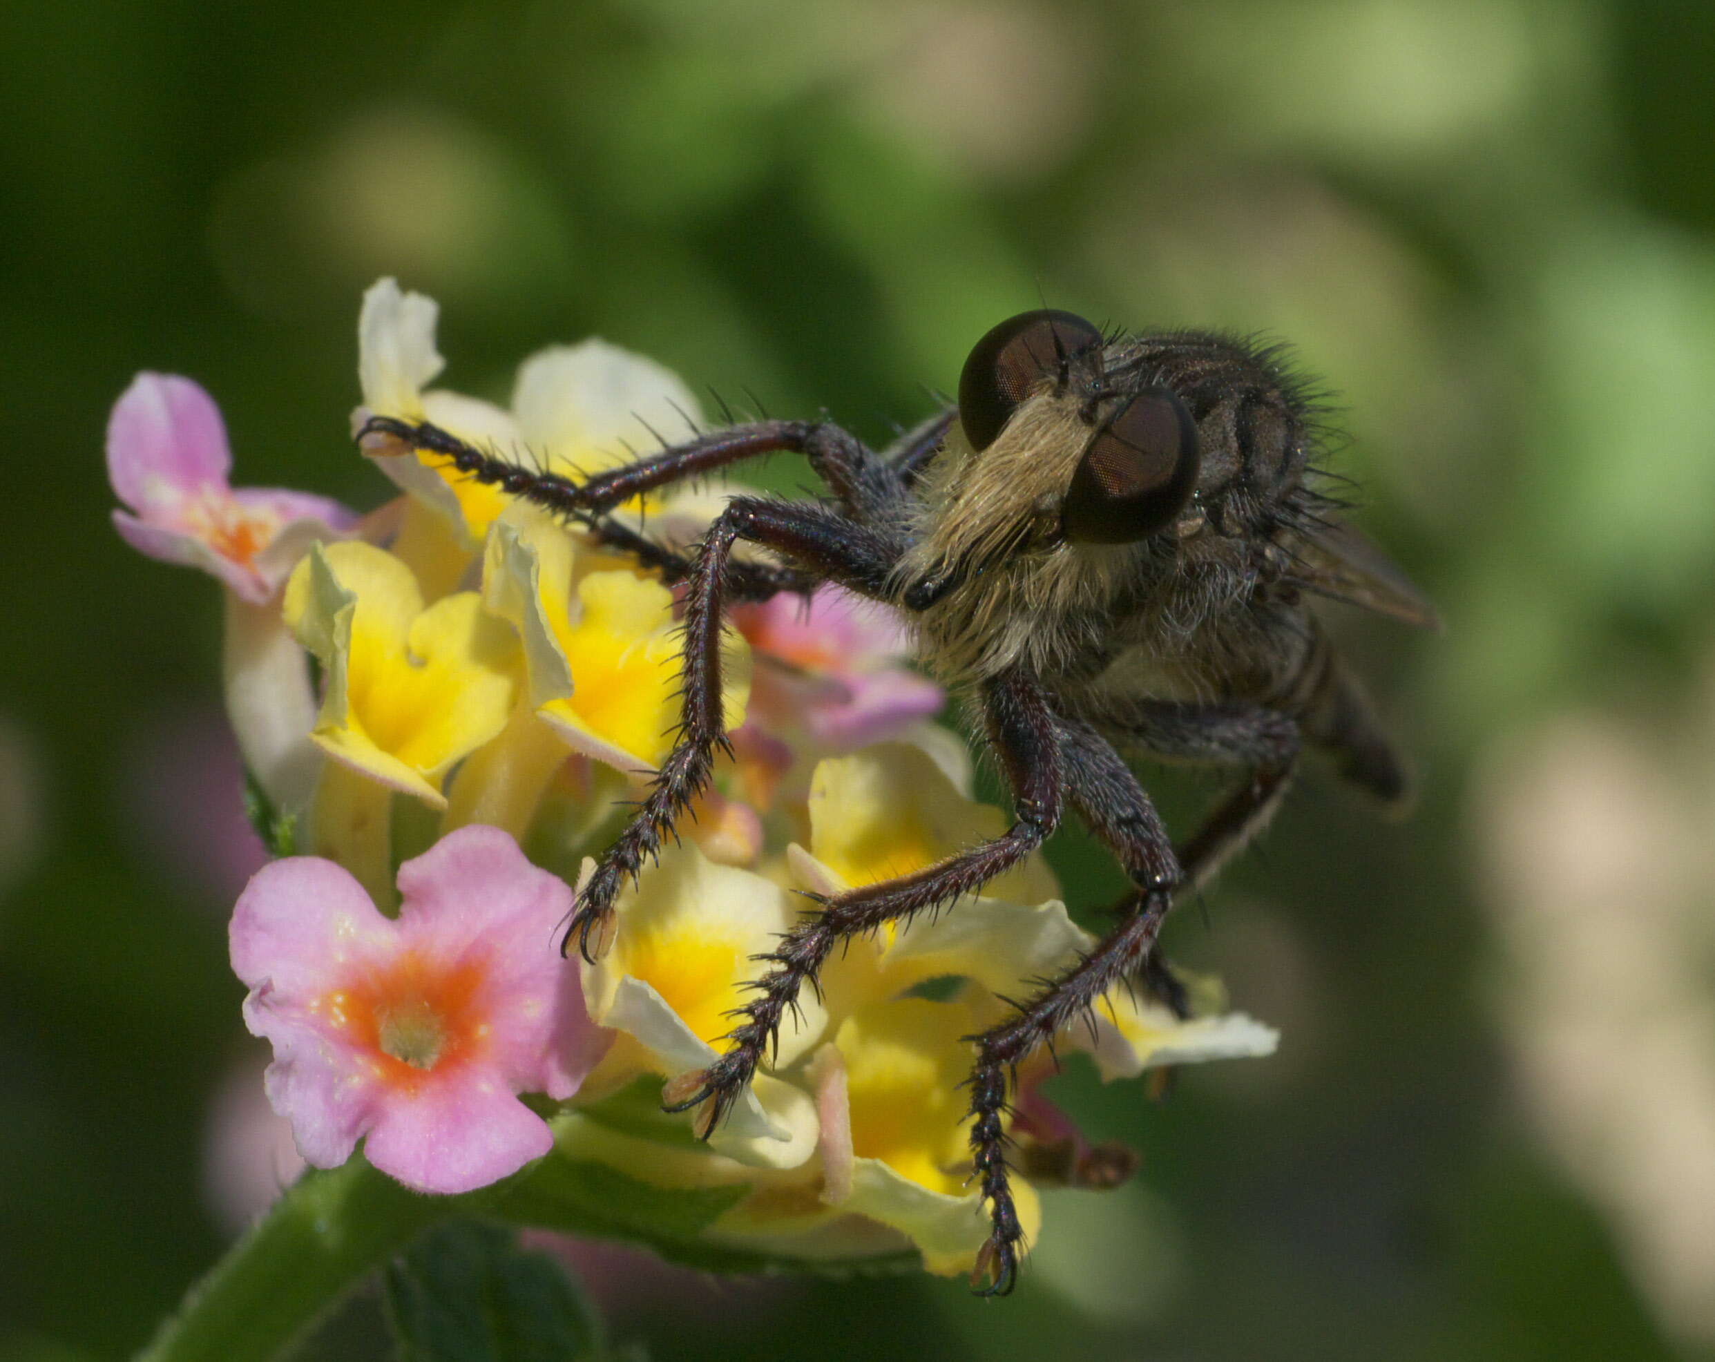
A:
[[[971,894],[1036,851],[1060,822],[1062,767],[1053,714],[1041,688],[1024,678],[995,681],[983,695],[988,736],[1014,791],[1014,823],[991,842],[895,880],[827,899],[768,955],[756,997],[737,1012],[727,1048],[708,1069],[683,1074],[665,1091],[667,1110],[696,1108],[696,1132],[708,1136],[739,1100],[780,1019],[840,943],[883,923]],[[998,1115],[995,1118],[998,1132]]]

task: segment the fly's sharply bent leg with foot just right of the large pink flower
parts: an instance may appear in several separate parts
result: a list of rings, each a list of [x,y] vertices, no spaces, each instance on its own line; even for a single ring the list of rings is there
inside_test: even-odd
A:
[[[708,527],[684,595],[684,676],[679,741],[667,755],[648,794],[619,839],[602,854],[585,883],[561,950],[578,949],[587,961],[604,954],[612,930],[614,899],[635,880],[643,861],[660,851],[674,820],[708,782],[715,753],[727,746],[720,707],[720,616],[729,599],[732,547],[761,544],[816,576],[864,595],[880,595],[897,545],[809,503],[736,497]]]

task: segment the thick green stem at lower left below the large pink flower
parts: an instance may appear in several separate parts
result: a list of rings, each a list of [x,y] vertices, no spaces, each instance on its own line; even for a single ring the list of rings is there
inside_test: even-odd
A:
[[[372,1268],[473,1201],[408,1192],[362,1156],[312,1170],[190,1288],[137,1362],[266,1362]]]

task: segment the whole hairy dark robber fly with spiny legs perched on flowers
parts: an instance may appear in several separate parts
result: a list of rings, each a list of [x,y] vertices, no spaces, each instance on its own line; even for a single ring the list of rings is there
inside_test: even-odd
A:
[[[707,1136],[744,1093],[782,1015],[842,942],[978,890],[1036,851],[1070,808],[1132,882],[1118,925],[1008,1021],[974,1038],[971,1151],[991,1216],[978,1259],[1010,1290],[1022,1230],[1002,1113],[1017,1065],[1118,979],[1183,997],[1154,945],[1175,895],[1267,820],[1319,748],[1382,803],[1403,763],[1305,595],[1411,624],[1434,611],[1334,518],[1312,458],[1317,405],[1278,350],[1173,331],[1104,334],[1070,312],[1003,321],[976,343],[957,407],[876,455],[827,420],[701,434],[583,482],[523,468],[427,424],[374,417],[372,453],[442,455],[684,583],[684,726],[648,794],[578,895],[564,949],[600,955],[614,901],[708,780],[725,744],[720,616],[736,600],[835,582],[897,607],[921,664],[967,696],[1012,787],[1014,822],[938,865],[830,895],[763,961],[708,1069],[667,1084]],[[737,496],[695,552],[609,511],[650,489],[791,449],[828,496]],[[739,542],[770,561],[736,557]],[[1243,777],[1175,847],[1128,756],[1230,765]]]

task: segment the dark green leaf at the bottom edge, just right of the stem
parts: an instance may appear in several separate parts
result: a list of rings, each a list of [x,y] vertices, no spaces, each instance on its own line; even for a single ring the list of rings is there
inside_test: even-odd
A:
[[[386,1312],[400,1362],[607,1357],[602,1323],[566,1271],[480,1220],[456,1220],[394,1259]]]

